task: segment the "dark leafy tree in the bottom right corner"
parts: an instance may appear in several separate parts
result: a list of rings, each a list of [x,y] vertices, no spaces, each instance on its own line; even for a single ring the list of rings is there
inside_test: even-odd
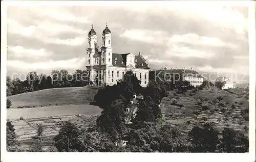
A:
[[[232,128],[222,130],[221,148],[225,152],[248,152],[249,140],[240,131]]]

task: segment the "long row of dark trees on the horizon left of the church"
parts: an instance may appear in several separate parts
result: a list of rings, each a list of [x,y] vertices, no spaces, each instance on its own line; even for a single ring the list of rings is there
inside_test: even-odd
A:
[[[70,74],[68,70],[53,70],[50,75],[37,74],[31,71],[27,74],[25,80],[7,76],[7,96],[44,90],[49,88],[63,87],[83,87],[89,83],[89,75],[85,70],[76,70]]]

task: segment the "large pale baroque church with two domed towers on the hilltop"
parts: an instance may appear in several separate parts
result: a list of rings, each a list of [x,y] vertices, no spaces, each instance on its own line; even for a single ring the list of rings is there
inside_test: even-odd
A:
[[[148,84],[149,67],[140,52],[137,56],[133,53],[113,53],[111,31],[106,25],[102,32],[102,47],[97,46],[97,35],[93,29],[88,34],[87,62],[90,80],[96,86],[113,86],[123,79],[127,71],[133,71],[141,86]]]

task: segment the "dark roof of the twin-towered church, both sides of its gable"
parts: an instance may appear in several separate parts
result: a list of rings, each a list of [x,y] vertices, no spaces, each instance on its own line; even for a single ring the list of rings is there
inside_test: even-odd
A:
[[[130,53],[123,53],[123,54],[119,54],[119,53],[112,53],[112,64],[113,66],[121,66],[121,67],[125,67],[126,66],[126,56],[129,55]],[[115,60],[116,58],[116,60]],[[149,69],[149,67],[146,64],[145,59],[142,56],[135,56],[135,60],[137,60],[135,67],[136,68],[141,68],[141,69]],[[134,61],[135,61],[134,60]],[[115,64],[116,61],[116,64]],[[123,62],[123,64],[122,64]],[[143,66],[142,66],[143,64]]]

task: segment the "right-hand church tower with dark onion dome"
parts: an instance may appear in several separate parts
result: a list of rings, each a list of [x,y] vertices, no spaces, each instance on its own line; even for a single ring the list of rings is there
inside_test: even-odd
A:
[[[106,28],[102,32],[101,65],[112,65],[111,43],[111,31],[108,28],[108,24],[106,24]]]

